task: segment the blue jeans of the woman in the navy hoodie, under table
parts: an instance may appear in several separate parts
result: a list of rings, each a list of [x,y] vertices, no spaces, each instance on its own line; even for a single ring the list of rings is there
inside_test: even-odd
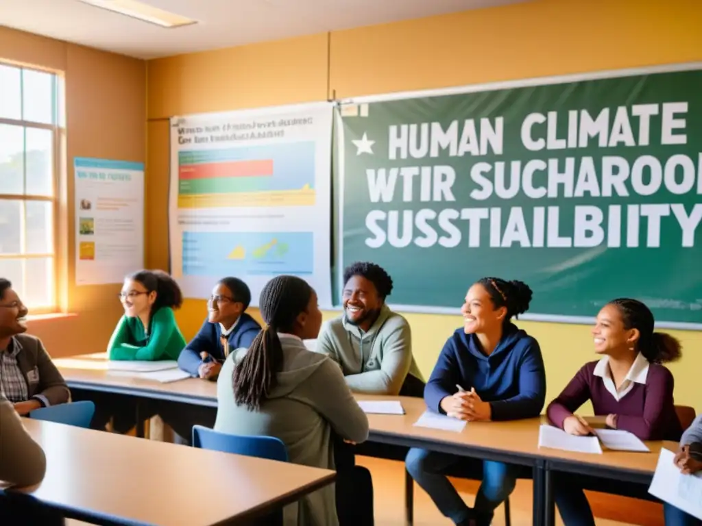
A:
[[[466,473],[482,484],[475,497],[475,508],[471,510],[465,505],[461,495],[451,485],[446,473],[465,459],[451,454],[413,448],[407,453],[405,464],[407,471],[420,487],[429,494],[444,516],[456,524],[466,522],[471,518],[478,525],[489,525],[494,510],[509,497],[517,483],[517,468],[502,462],[482,461],[475,459],[470,466],[474,471]]]

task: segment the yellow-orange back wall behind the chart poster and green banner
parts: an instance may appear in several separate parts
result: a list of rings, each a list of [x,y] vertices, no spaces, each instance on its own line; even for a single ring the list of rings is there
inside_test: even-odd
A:
[[[168,116],[698,61],[701,18],[702,4],[694,0],[536,0],[152,60],[147,65],[148,263],[168,265],[168,126],[163,120]],[[456,283],[456,297],[469,285]],[[406,315],[425,375],[462,323],[459,306],[456,316]],[[187,337],[197,331],[205,311],[204,301],[185,302],[178,322]],[[593,357],[589,327],[519,325],[541,342],[549,397]],[[676,400],[702,411],[697,385],[702,332],[672,332],[685,349],[682,362],[671,366]]]

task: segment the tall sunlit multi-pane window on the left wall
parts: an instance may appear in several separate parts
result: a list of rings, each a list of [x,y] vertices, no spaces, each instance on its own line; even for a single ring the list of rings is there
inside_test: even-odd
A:
[[[58,88],[0,62],[0,276],[34,312],[56,304]]]

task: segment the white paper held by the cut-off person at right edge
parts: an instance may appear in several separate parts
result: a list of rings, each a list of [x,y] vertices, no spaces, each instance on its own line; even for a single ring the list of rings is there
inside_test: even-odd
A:
[[[649,493],[702,520],[702,473],[683,475],[674,458],[672,451],[661,450]]]

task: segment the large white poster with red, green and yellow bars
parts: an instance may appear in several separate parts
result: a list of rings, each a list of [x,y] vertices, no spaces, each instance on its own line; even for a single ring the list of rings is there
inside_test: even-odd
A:
[[[204,299],[235,276],[303,278],[331,306],[331,103],[171,119],[171,274]]]

